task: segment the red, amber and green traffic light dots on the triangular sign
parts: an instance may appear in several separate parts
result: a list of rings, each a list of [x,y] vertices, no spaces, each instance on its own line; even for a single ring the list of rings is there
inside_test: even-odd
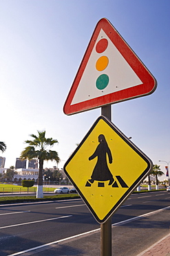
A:
[[[97,53],[104,53],[105,50],[107,49],[108,46],[108,40],[103,38],[98,41],[96,44],[96,52]],[[107,68],[109,64],[109,59],[107,56],[102,55],[98,58],[96,61],[96,70],[99,72],[102,72]],[[107,87],[109,84],[109,76],[106,75],[105,73],[102,73],[101,75],[98,76],[96,80],[96,87],[98,90],[103,90]]]

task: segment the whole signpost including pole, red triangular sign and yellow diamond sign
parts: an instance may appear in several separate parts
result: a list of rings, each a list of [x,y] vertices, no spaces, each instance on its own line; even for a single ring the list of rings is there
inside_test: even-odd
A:
[[[66,115],[72,115],[101,107],[102,116],[64,165],[65,174],[100,223],[100,256],[111,256],[111,215],[152,168],[151,160],[111,123],[111,104],[149,95],[156,86],[155,77],[116,28],[107,19],[100,19],[63,108]],[[110,166],[111,170],[106,153],[109,164],[111,153],[121,158]],[[94,165],[96,156],[98,161]],[[126,170],[120,169],[123,161],[128,163]]]

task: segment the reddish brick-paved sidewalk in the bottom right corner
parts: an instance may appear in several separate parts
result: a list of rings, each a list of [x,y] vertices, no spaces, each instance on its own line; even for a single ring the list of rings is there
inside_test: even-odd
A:
[[[137,256],[170,256],[170,233]]]

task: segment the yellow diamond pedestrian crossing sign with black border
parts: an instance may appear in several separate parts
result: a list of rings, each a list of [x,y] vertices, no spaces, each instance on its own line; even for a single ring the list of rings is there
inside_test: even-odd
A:
[[[96,220],[104,223],[151,167],[151,160],[100,116],[65,163],[64,171]]]

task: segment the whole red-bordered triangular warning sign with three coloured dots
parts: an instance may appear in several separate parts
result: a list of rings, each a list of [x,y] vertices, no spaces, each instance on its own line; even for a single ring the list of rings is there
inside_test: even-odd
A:
[[[156,80],[107,19],[100,19],[64,105],[67,115],[153,93]]]

